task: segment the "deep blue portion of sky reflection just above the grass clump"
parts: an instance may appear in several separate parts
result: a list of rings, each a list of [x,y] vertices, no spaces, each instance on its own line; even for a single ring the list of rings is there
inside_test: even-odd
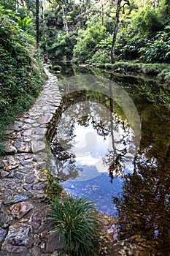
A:
[[[110,182],[107,173],[101,173],[88,181],[66,181],[61,183],[73,197],[85,197],[96,204],[96,208],[103,214],[115,216],[116,208],[112,203],[112,196],[121,192],[121,179],[114,178]]]

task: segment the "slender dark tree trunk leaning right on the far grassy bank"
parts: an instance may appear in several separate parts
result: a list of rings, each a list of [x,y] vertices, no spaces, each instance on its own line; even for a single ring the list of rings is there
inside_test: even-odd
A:
[[[113,31],[113,38],[112,38],[112,48],[111,48],[111,63],[115,63],[115,43],[116,43],[116,37],[117,37],[117,29],[118,29],[118,23],[119,23],[119,13],[120,13],[120,4],[122,0],[117,1],[117,9],[116,9],[116,16],[115,16],[115,27]]]

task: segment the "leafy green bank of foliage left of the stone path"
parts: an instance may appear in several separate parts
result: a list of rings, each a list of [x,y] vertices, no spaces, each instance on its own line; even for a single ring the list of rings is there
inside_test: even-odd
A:
[[[0,7],[0,23],[1,140],[6,124],[38,95],[42,74],[34,58],[34,39],[24,31],[31,20]]]

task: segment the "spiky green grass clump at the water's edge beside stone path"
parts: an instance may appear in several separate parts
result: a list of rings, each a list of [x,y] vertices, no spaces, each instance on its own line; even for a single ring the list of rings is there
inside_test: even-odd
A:
[[[98,218],[93,203],[70,195],[55,197],[48,219],[55,221],[53,230],[65,238],[69,255],[96,255]]]

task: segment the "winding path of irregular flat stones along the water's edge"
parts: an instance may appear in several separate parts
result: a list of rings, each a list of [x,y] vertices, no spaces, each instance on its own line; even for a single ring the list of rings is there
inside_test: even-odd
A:
[[[6,157],[0,159],[0,255],[52,255],[62,249],[47,236],[47,173],[50,150],[46,136],[61,95],[55,76],[48,80],[34,105],[7,131]],[[55,243],[54,243],[55,239]]]

